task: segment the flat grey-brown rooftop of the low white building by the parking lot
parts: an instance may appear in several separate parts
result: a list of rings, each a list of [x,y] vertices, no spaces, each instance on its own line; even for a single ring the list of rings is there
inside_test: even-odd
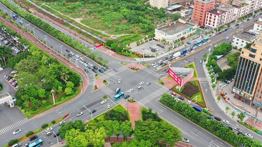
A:
[[[173,35],[173,34],[176,34],[180,31],[183,31],[183,30],[186,30],[186,29],[189,29],[191,27],[194,27],[195,25],[191,24],[191,23],[181,23],[179,21],[175,21],[173,23],[170,23],[170,24],[167,24],[167,25],[164,25],[162,27],[159,27],[157,28],[158,30],[166,33],[167,35]]]

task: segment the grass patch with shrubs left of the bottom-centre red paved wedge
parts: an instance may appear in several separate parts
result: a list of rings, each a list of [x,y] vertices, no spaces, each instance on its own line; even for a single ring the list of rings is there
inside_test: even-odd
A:
[[[112,108],[112,109],[102,113],[101,115],[97,116],[96,118],[91,119],[88,123],[88,126],[91,127],[91,128],[96,128],[99,121],[114,120],[115,118],[108,117],[109,114],[114,112],[114,111],[118,112],[120,115],[125,115],[125,114],[127,115],[127,110],[119,104],[119,105],[115,106],[114,108]],[[127,117],[126,120],[130,120],[129,115],[124,116],[124,117]]]

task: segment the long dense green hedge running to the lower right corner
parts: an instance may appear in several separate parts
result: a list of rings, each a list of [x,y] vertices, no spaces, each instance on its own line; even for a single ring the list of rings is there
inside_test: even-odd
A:
[[[162,95],[160,102],[234,147],[262,147],[262,144],[260,144],[258,140],[254,141],[247,136],[237,135],[235,132],[229,130],[228,127],[224,126],[220,121],[208,119],[208,115],[203,112],[197,112],[187,103],[174,101],[174,98],[170,94]]]

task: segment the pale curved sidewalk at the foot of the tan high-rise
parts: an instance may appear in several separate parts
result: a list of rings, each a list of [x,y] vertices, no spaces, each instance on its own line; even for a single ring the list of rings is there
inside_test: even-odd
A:
[[[205,72],[205,74],[206,74],[206,77],[207,77],[207,79],[208,79],[208,82],[209,82],[210,87],[212,87],[211,76],[210,76],[210,74],[208,73],[205,64],[206,64],[206,62],[204,62],[204,64],[203,64],[204,72]],[[227,89],[229,90],[229,85],[228,85],[227,87],[228,87]],[[247,117],[244,118],[244,121],[246,121],[246,119],[249,118],[250,116],[255,116],[255,110],[254,110],[254,108],[252,108],[250,105],[248,105],[248,104],[246,104],[246,103],[241,103],[241,105],[245,105],[245,107],[248,108],[247,110],[244,110],[244,109],[241,109],[241,108],[237,107],[233,102],[230,103],[230,101],[224,100],[223,98],[221,98],[221,100],[218,101],[218,100],[217,100],[217,96],[218,96],[218,95],[216,94],[216,91],[217,91],[216,88],[217,88],[217,86],[216,86],[214,89],[211,90],[211,91],[212,91],[213,98],[214,98],[215,102],[217,103],[217,105],[220,107],[220,109],[221,109],[226,115],[228,115],[228,117],[231,117],[233,120],[237,121],[237,120],[239,120],[239,119],[237,118],[237,115],[240,114],[241,112],[243,112],[243,113],[246,112],[246,114],[247,114],[246,116],[247,116]],[[229,90],[229,91],[230,91],[230,90]],[[227,92],[229,92],[229,91],[227,91]],[[230,94],[231,94],[231,92],[229,92],[229,95],[230,95]],[[234,98],[230,96],[230,99],[232,100],[232,99],[234,99]],[[226,107],[227,107],[227,106],[229,107],[228,112],[226,112]],[[231,115],[231,113],[232,113],[233,111],[235,112],[235,116],[234,116],[234,117],[232,117],[232,115]],[[251,117],[250,117],[250,118],[251,118]],[[258,117],[257,117],[257,118],[258,118],[260,121],[262,120],[262,116],[261,116],[260,114],[258,114]]]

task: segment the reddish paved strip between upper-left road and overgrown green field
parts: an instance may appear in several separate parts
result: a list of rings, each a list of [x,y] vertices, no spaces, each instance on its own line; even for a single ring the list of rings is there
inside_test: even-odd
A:
[[[56,26],[62,28],[62,29],[65,29],[67,32],[75,35],[75,36],[78,36],[80,39],[82,39],[83,41],[86,41],[88,42],[89,44],[92,44],[94,46],[98,45],[98,44],[95,44],[92,40],[88,39],[87,37],[83,36],[81,33],[77,33],[75,32],[74,30],[72,29],[69,29],[68,27],[66,27],[65,25],[61,24],[60,22],[56,21],[56,19],[52,19],[52,18],[49,18],[48,16],[46,15],[43,15],[42,13],[39,13],[39,12],[36,12],[34,13],[34,15],[42,18],[42,19],[45,19],[46,21],[49,21],[49,22],[52,22],[52,24],[55,24]],[[121,60],[127,60],[127,61],[135,61],[135,59],[131,58],[131,57],[125,57],[125,56],[122,56],[122,55],[119,55],[117,53],[115,53],[114,51],[104,47],[104,46],[101,46],[98,48],[100,51],[104,52],[105,54],[108,54],[114,58],[117,58],[117,59],[121,59]]]

